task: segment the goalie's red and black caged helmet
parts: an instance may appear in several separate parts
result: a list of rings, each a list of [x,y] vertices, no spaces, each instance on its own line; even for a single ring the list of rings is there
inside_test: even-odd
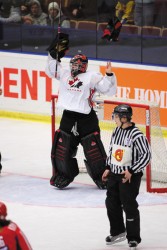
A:
[[[83,54],[75,55],[70,60],[70,70],[72,77],[80,73],[85,73],[88,67],[88,58]]]

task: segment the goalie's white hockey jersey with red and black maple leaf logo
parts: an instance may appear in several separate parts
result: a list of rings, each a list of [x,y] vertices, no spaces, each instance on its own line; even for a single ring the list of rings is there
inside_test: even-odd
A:
[[[56,60],[48,55],[46,74],[55,78]],[[115,75],[103,76],[95,71],[86,71],[71,77],[70,69],[67,70],[58,63],[56,79],[60,80],[57,107],[89,114],[92,108],[92,96],[96,91],[104,95],[116,94],[117,80]]]

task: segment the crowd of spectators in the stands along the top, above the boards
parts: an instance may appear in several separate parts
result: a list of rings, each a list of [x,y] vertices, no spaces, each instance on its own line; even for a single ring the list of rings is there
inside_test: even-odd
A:
[[[59,1],[58,1],[59,2]],[[62,4],[50,0],[0,0],[0,22],[70,28],[70,20],[108,22],[117,16],[122,24],[156,25],[156,4],[167,0],[68,0]],[[62,1],[63,3],[65,1]],[[167,19],[167,16],[166,16]],[[166,23],[162,24],[167,27]]]

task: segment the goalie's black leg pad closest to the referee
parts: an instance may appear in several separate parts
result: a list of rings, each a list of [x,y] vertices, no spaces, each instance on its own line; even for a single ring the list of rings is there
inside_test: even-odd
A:
[[[105,171],[106,152],[99,132],[92,133],[81,139],[86,157],[85,165],[88,174],[100,189],[106,188],[102,181],[102,174]]]

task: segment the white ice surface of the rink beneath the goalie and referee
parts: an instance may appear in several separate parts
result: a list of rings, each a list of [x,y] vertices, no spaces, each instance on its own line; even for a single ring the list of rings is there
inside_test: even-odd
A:
[[[33,250],[128,249],[126,241],[105,245],[106,191],[87,174],[64,190],[49,185],[50,131],[50,124],[0,118],[0,200],[8,206],[8,218],[25,232]],[[143,181],[138,201],[138,250],[167,250],[167,194],[147,193]]]

